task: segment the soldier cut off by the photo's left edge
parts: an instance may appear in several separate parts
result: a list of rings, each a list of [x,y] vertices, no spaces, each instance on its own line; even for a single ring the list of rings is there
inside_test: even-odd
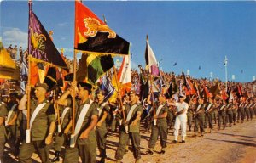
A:
[[[2,101],[2,95],[0,93],[0,162],[3,162],[3,149],[6,140],[6,131],[4,126],[5,117],[7,116],[7,105]]]

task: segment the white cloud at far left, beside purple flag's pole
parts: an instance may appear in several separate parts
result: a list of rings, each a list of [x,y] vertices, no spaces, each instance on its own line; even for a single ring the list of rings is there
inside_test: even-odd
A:
[[[10,44],[13,46],[27,48],[27,32],[20,31],[19,28],[8,28],[3,31],[3,45],[9,47]]]

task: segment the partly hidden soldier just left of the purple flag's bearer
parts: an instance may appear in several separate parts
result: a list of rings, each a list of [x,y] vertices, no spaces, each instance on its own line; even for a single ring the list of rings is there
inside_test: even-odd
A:
[[[10,93],[9,94],[9,103],[8,105],[8,115],[5,121],[5,126],[7,126],[7,135],[9,138],[9,143],[11,148],[15,148],[14,154],[19,154],[20,149],[20,121],[18,115],[20,115],[20,110],[18,110],[18,94]]]

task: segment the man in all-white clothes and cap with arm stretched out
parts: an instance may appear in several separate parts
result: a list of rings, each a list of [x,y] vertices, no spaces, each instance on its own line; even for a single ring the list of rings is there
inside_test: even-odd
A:
[[[184,102],[184,99],[186,98],[185,95],[180,94],[178,96],[179,102],[177,103],[169,103],[170,105],[176,106],[176,119],[174,124],[174,140],[172,143],[177,143],[177,136],[179,127],[181,127],[181,136],[182,136],[182,142],[185,143],[185,137],[186,137],[186,130],[187,130],[187,110],[189,109],[189,104]]]

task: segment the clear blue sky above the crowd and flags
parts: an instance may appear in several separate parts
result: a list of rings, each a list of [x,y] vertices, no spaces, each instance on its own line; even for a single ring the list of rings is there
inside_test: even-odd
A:
[[[191,76],[250,82],[256,76],[255,2],[84,1],[108,26],[131,42],[131,66],[145,65],[146,35],[160,67],[190,71]],[[33,1],[32,10],[47,31],[54,31],[57,48],[73,57],[74,2]],[[1,2],[0,36],[3,44],[26,47],[27,1]],[[176,66],[173,64],[177,62]],[[201,70],[199,70],[201,66]]]

